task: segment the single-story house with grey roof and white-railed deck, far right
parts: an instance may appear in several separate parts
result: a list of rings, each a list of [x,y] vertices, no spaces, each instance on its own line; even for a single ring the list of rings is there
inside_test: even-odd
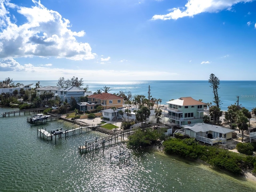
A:
[[[183,126],[182,129],[185,135],[211,145],[226,143],[226,140],[232,138],[232,132],[234,132],[232,129],[206,123],[188,124]]]

